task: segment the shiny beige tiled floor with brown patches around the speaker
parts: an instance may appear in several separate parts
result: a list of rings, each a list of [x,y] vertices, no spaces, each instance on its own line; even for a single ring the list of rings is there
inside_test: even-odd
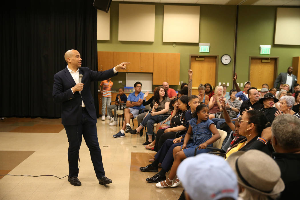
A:
[[[41,128],[41,124],[44,128]],[[59,131],[59,124],[60,119],[7,118],[0,121],[0,174],[67,175],[68,142],[65,130]],[[32,129],[28,126],[32,126]],[[49,130],[54,133],[49,133]],[[182,186],[158,189],[155,184],[145,181],[154,172],[138,170],[140,166],[149,164],[147,160],[154,153],[142,145],[145,136],[126,133],[125,138],[113,138],[119,127],[110,127],[108,120],[98,119],[97,130],[105,173],[112,179],[112,184],[98,184],[88,148],[82,140],[79,153],[80,187],[70,185],[67,177],[4,176],[0,179],[0,199],[179,198]]]

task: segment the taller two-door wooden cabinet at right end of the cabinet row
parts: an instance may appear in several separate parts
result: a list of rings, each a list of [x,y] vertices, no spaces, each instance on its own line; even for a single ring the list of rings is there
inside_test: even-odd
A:
[[[178,85],[180,74],[180,53],[154,53],[153,85]]]

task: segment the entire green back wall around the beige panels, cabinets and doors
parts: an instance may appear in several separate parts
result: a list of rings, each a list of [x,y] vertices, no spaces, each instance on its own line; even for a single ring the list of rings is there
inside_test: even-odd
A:
[[[138,2],[122,2],[138,3]],[[140,3],[143,4],[143,3]],[[145,3],[151,4],[151,3]],[[168,4],[168,5],[193,5],[193,4]],[[199,5],[199,4],[196,4]],[[235,35],[234,5],[207,5],[200,4],[200,30],[199,42],[210,43],[209,53],[199,53],[198,43],[164,43],[163,41],[163,13],[164,4],[155,4],[155,41],[131,42],[118,40],[119,2],[113,1],[110,7],[110,40],[98,40],[98,51],[123,51],[123,52],[166,52],[180,53],[180,81],[187,82],[189,68],[189,55],[219,55],[229,54],[232,61],[223,65],[219,60],[217,82],[229,82],[232,88],[234,35]],[[299,46],[272,45],[276,7],[275,6],[240,6],[238,19],[238,40],[236,72],[238,82],[248,79],[249,56],[259,55],[260,44],[271,44],[271,55],[279,56],[279,72],[286,71],[292,64],[292,57],[300,55]],[[196,72],[194,72],[196,73]],[[122,87],[118,83],[122,80],[125,84],[125,73],[119,73],[112,78],[113,88]],[[203,83],[204,84],[204,83]],[[155,86],[154,86],[155,87]],[[179,89],[179,85],[170,86]]]

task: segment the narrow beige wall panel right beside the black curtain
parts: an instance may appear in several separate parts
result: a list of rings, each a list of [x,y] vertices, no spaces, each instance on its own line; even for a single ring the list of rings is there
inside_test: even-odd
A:
[[[97,40],[110,40],[110,10],[97,12]]]

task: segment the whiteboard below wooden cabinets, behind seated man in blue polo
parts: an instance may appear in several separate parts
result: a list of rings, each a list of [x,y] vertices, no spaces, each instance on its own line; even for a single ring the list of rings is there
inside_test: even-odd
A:
[[[126,73],[126,87],[134,87],[137,81],[142,83],[142,91],[152,91],[152,73]]]

